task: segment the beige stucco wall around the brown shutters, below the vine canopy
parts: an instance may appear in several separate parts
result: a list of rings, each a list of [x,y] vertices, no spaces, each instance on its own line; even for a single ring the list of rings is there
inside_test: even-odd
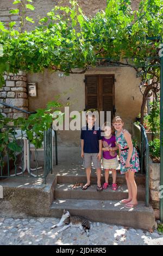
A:
[[[140,78],[136,78],[133,68],[93,68],[82,75],[70,75],[59,77],[58,72],[45,70],[43,74],[28,74],[28,82],[37,82],[38,96],[29,97],[29,111],[43,108],[48,101],[54,100],[60,95],[64,105],[71,103],[71,111],[83,111],[85,108],[85,75],[89,74],[115,74],[115,107],[116,115],[121,115],[125,127],[131,132],[131,122],[140,112],[142,95],[139,90]],[[65,92],[67,92],[65,94]],[[68,97],[70,97],[69,100]],[[134,97],[134,98],[133,98]],[[70,119],[71,120],[71,119]],[[79,131],[59,131],[59,139],[62,143],[78,144]]]

